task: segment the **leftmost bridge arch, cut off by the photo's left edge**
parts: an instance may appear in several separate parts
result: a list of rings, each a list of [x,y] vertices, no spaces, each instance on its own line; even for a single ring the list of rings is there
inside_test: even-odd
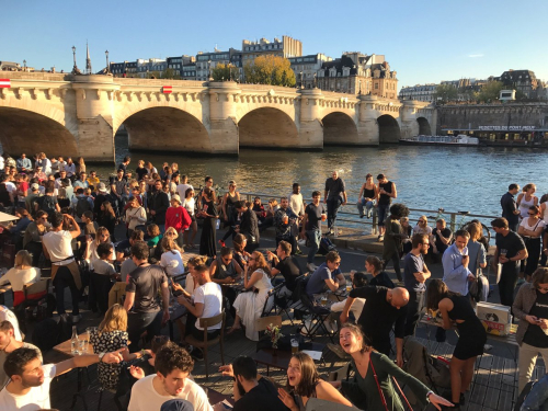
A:
[[[65,125],[64,114],[49,107],[48,114],[19,107],[0,106],[0,142],[3,152],[25,152],[32,157],[44,151],[48,157],[76,157],[79,153],[77,125]],[[53,118],[52,118],[53,117]]]

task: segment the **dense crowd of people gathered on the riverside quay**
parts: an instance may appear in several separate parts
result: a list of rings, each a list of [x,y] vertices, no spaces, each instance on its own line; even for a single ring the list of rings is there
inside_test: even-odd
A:
[[[4,173],[0,204],[19,218],[4,227],[18,252],[14,267],[0,278],[14,290],[14,313],[0,307],[0,319],[1,315],[4,318],[0,322],[2,410],[49,409],[52,379],[69,368],[94,363],[99,363],[102,388],[116,391],[122,408],[129,411],[212,410],[204,389],[191,374],[204,352],[186,342],[187,336],[204,339],[201,319],[226,310],[233,319],[229,334],[244,329],[248,339],[258,341],[255,320],[269,312],[274,304],[270,290],[279,282],[283,287],[276,297],[285,300],[292,299],[299,287],[313,298],[336,293],[349,283],[336,251],[328,252],[324,263],[315,265],[322,222],[327,221],[327,236],[334,235],[338,212],[349,202],[345,183],[336,171],[327,179],[323,195],[312,192],[308,204],[295,183],[289,196],[281,197],[279,203],[270,199],[265,206],[259,197],[252,203],[242,199],[235,181],[221,194],[214,189],[213,178],[206,176],[204,187],[196,193],[176,163],[164,163],[158,171],[150,162],[139,160],[133,172],[130,162],[129,157],[124,158],[105,183],[95,171],[87,173],[82,158],[76,162],[70,158],[49,160],[43,152],[34,161],[24,153],[16,161],[9,156],[1,158]],[[548,270],[537,269],[540,254],[545,255],[540,238],[546,236],[546,198],[539,206],[535,186],[527,184],[514,201],[517,191],[516,184],[509,187],[501,199],[503,217],[491,226],[496,232],[493,263],[501,271],[501,302],[513,307],[520,319],[523,388],[538,353],[548,359]],[[370,255],[365,261],[366,273],[351,273],[347,298],[331,306],[327,320],[335,323],[331,330],[340,338],[340,344],[330,347],[350,359],[354,378],[324,381],[313,361],[299,352],[289,362],[286,387],[276,389],[258,374],[250,357],[240,356],[219,369],[233,378],[235,410],[249,410],[260,399],[267,410],[302,411],[309,398],[358,409],[403,410],[392,376],[437,409],[458,409],[464,403],[476,358],[487,341],[469,285],[487,265],[489,244],[482,242],[479,222],[452,232],[443,219],[431,228],[426,216],[421,216],[412,228],[409,209],[393,204],[395,198],[393,182],[379,174],[375,183],[367,174],[356,206],[359,217],[378,217],[383,259]],[[196,246],[198,221],[202,230]],[[217,240],[221,221],[226,232]],[[259,251],[260,237],[269,227],[274,228],[276,249],[263,253]],[[225,242],[229,238],[231,248]],[[304,253],[300,247],[305,244],[307,276],[302,276],[295,259]],[[186,266],[184,250],[196,250]],[[434,263],[441,260],[443,279],[430,278],[425,256]],[[393,279],[385,271],[389,262],[396,272]],[[540,264],[545,263],[546,258],[540,259]],[[24,313],[27,299],[44,297],[43,293],[25,296],[23,287],[39,281],[41,269],[50,270],[57,313],[65,321],[80,321],[83,301],[102,318],[90,336],[94,355],[42,365],[39,350],[22,341],[18,317]],[[174,281],[186,271],[184,284]],[[520,276],[526,284],[514,301]],[[125,299],[115,304],[111,293],[119,284]],[[70,315],[65,309],[66,288],[71,295]],[[184,323],[179,321],[181,341],[176,344],[161,334],[170,320],[173,299],[186,309]],[[458,329],[459,340],[450,361],[450,402],[401,369],[403,338],[414,335],[425,309],[441,313],[438,341],[445,340],[445,330]],[[208,340],[219,335],[220,327],[207,329]],[[389,359],[392,330],[396,364]],[[123,372],[123,364],[130,364],[128,373]],[[173,399],[179,402],[173,403]],[[221,407],[217,404],[215,410]]]

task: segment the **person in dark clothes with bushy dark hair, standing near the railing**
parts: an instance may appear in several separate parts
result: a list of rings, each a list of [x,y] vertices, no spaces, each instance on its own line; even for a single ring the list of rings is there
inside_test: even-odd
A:
[[[401,283],[400,271],[400,255],[403,251],[402,248],[402,230],[400,218],[409,216],[409,208],[403,204],[393,204],[390,207],[390,217],[386,220],[385,238],[383,248],[383,270],[386,269],[388,262],[391,260],[393,271],[398,281]]]

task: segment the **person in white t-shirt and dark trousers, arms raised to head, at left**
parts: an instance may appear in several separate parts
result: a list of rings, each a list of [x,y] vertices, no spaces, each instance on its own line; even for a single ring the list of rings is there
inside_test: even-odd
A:
[[[62,224],[67,220],[72,227],[72,231],[62,229]],[[52,261],[52,283],[55,286],[57,312],[59,316],[67,316],[65,311],[65,287],[70,288],[72,296],[72,322],[80,321],[80,290],[82,281],[80,269],[72,253],[72,239],[80,236],[80,227],[72,216],[68,214],[54,213],[49,217],[52,231],[42,237],[42,247],[46,259]]]

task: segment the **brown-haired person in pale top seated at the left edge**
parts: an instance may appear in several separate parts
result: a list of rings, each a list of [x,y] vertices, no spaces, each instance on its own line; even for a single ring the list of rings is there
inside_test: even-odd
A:
[[[25,284],[39,282],[41,271],[32,266],[32,255],[26,250],[18,251],[15,254],[15,266],[10,269],[0,277],[0,285],[11,284],[13,290],[13,306],[16,307],[25,299]],[[47,294],[47,290],[30,295],[28,299],[39,299]]]

